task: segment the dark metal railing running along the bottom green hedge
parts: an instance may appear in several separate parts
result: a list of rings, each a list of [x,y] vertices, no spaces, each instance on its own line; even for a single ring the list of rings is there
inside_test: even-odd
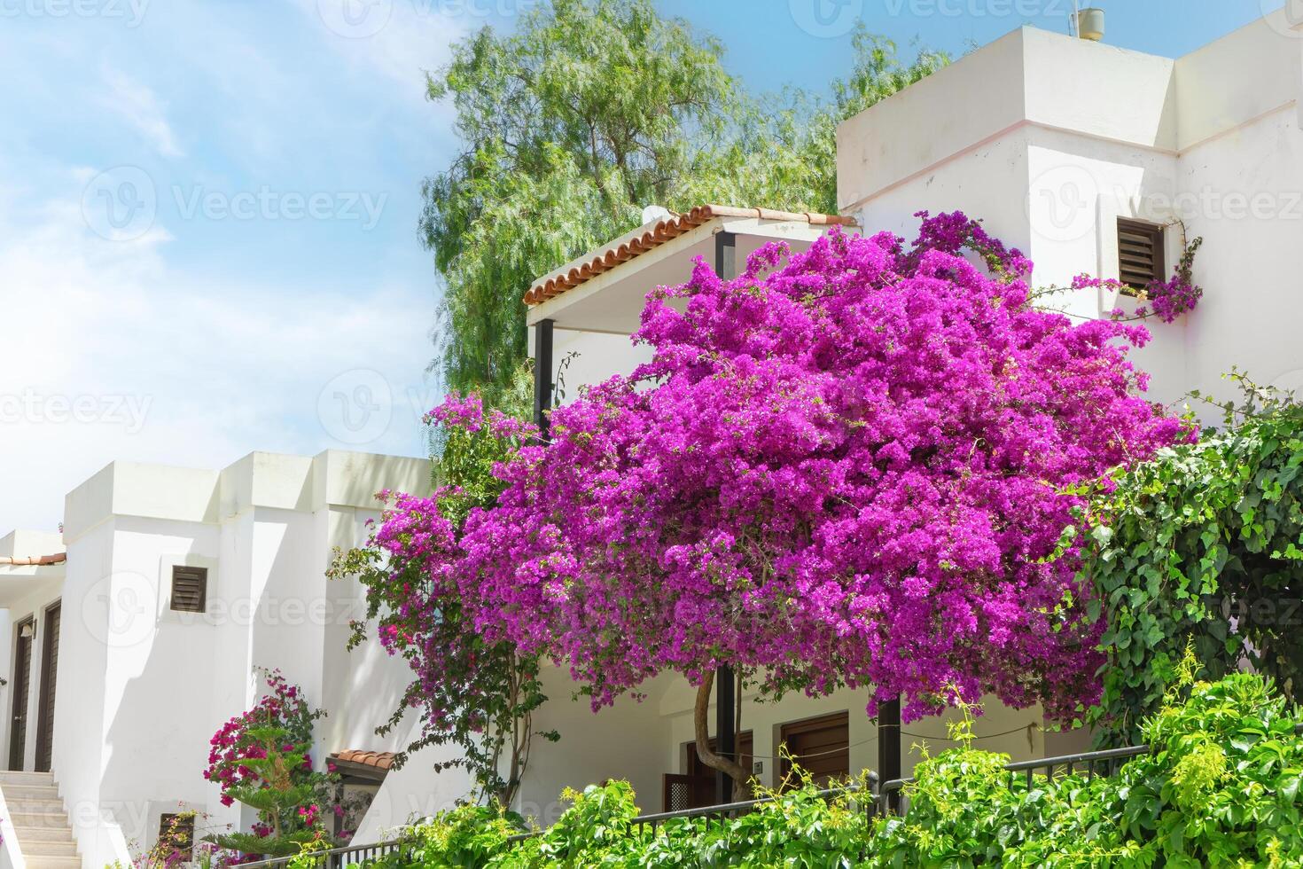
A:
[[[1303,723],[1294,726],[1294,734],[1303,736]],[[1079,754],[1059,754],[1057,757],[1042,757],[1033,761],[1018,761],[1014,763],[1006,763],[1005,771],[1009,774],[1010,784],[1019,775],[1027,776],[1027,784],[1031,787],[1036,780],[1036,775],[1041,774],[1046,779],[1053,779],[1055,775],[1071,775],[1074,773],[1084,773],[1087,779],[1093,779],[1097,775],[1111,776],[1117,775],[1122,765],[1131,760],[1132,757],[1139,757],[1141,754],[1148,754],[1151,752],[1149,745],[1128,745],[1126,748],[1108,748],[1098,752],[1081,752]],[[882,782],[880,784],[877,773],[869,773],[866,776],[869,799],[864,800],[863,808],[865,814],[869,817],[876,817],[878,814],[893,814],[903,817],[909,812],[909,795],[908,786],[913,783],[912,778],[899,778],[891,779],[889,782]],[[843,787],[826,788],[816,793],[818,797],[830,799],[844,795],[855,795],[863,792],[863,787],[859,784],[850,784]],[[628,823],[629,831],[636,831],[642,835],[648,830],[657,830],[659,826],[665,825],[667,821],[676,821],[680,818],[705,818],[706,826],[709,827],[711,821],[724,825],[728,821],[751,812],[758,806],[767,803],[774,803],[782,800],[783,795],[761,797],[758,800],[741,800],[739,803],[724,803],[721,805],[706,805],[696,809],[679,809],[676,812],[658,812],[654,814],[641,814],[632,818]],[[507,839],[507,843],[524,842],[536,836],[545,835],[543,830],[534,830],[532,833],[520,833]],[[387,853],[399,851],[400,848],[409,847],[410,843],[403,839],[395,842],[380,842],[374,844],[361,844],[349,846],[347,848],[334,848],[331,851],[322,851],[314,855],[314,866],[321,869],[345,869],[345,866],[353,866],[365,860],[380,857]],[[241,869],[271,869],[280,868],[288,864],[292,857],[276,857],[274,860],[259,860],[258,862],[241,864]]]

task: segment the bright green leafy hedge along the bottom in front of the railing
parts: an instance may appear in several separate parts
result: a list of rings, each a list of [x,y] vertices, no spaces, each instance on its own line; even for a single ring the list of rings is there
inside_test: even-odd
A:
[[[1197,683],[1144,724],[1153,753],[1113,778],[1012,776],[968,747],[920,762],[906,819],[868,819],[812,786],[724,825],[632,829],[624,782],[569,793],[546,834],[508,843],[515,816],[464,806],[418,827],[397,866],[1300,866],[1303,740],[1259,676]],[[962,735],[962,734],[960,734]]]

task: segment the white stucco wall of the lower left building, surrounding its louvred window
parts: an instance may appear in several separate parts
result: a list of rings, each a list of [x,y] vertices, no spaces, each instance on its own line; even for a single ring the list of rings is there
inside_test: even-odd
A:
[[[129,861],[162,812],[207,813],[207,829],[251,816],[203,779],[208,739],[279,668],[318,723],[318,763],[374,735],[407,668],[378,644],[348,653],[362,611],[354,580],[326,578],[336,547],[362,542],[380,489],[427,491],[416,459],[253,453],[222,472],[119,463],[68,496],[68,578],[53,767],[83,865]],[[208,569],[207,611],[168,606],[176,564]]]

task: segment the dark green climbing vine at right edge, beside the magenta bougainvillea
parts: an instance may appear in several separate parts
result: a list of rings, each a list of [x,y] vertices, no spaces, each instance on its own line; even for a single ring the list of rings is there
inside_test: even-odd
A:
[[[1192,638],[1213,677],[1242,661],[1303,698],[1303,405],[1230,375],[1226,427],[1161,449],[1092,504],[1083,571],[1108,631],[1104,736],[1139,736]],[[1197,396],[1196,396],[1197,397]]]

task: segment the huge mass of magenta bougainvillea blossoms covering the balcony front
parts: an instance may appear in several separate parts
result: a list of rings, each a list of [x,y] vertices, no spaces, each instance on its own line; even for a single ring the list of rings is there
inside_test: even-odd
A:
[[[1075,552],[1048,559],[1074,492],[1192,433],[1140,397],[1144,328],[1036,310],[1029,275],[955,214],[908,246],[773,244],[734,280],[698,262],[648,297],[653,360],[556,408],[463,534],[397,499],[378,539],[429,565],[427,632],[382,640],[438,679],[433,602],[456,599],[463,649],[564,662],[594,707],[728,663],[771,692],[868,688],[869,714],[902,694],[907,720],[955,691],[1071,717],[1102,661]]]

